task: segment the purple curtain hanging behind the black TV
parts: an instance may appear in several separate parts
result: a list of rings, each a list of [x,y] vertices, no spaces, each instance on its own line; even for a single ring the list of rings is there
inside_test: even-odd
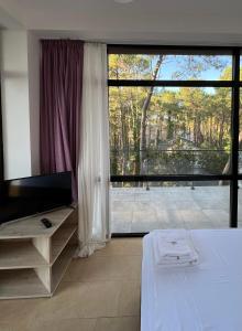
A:
[[[41,45],[41,172],[72,171],[76,201],[84,42],[42,40]]]

